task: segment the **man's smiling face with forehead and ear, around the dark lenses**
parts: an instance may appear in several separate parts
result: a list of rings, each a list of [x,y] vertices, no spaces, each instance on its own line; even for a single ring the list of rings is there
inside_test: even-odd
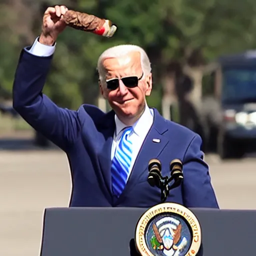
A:
[[[118,116],[133,118],[143,111],[145,96],[149,96],[152,89],[151,74],[143,74],[138,81],[138,86],[129,88],[125,86],[122,77],[142,75],[140,53],[132,52],[117,58],[106,58],[102,62],[106,77],[105,80],[119,79],[119,86],[108,89],[106,84],[100,84],[100,90]]]

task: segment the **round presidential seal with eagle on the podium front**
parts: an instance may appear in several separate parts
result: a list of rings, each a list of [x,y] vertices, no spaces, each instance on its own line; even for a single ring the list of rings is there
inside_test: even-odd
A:
[[[142,256],[193,256],[201,244],[200,224],[186,207],[163,202],[139,218],[135,244]]]

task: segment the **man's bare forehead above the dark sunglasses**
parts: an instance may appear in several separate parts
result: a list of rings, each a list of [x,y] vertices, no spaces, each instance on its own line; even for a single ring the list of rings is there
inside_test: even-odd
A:
[[[105,58],[102,65],[107,75],[141,71],[140,52],[130,52],[123,56]]]

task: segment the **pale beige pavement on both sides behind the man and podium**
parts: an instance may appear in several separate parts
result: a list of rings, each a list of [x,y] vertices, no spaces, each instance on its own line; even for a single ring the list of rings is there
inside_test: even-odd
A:
[[[256,209],[255,159],[220,162],[206,156],[221,208]],[[0,255],[38,255],[43,209],[67,206],[69,195],[62,152],[0,151]]]

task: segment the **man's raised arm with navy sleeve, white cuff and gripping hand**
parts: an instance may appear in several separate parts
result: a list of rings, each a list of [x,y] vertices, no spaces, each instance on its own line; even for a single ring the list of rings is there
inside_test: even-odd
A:
[[[39,40],[21,51],[13,82],[13,107],[35,130],[66,150],[79,132],[77,113],[58,107],[42,93],[56,37],[65,27],[61,22],[64,11],[64,6],[47,8]]]

